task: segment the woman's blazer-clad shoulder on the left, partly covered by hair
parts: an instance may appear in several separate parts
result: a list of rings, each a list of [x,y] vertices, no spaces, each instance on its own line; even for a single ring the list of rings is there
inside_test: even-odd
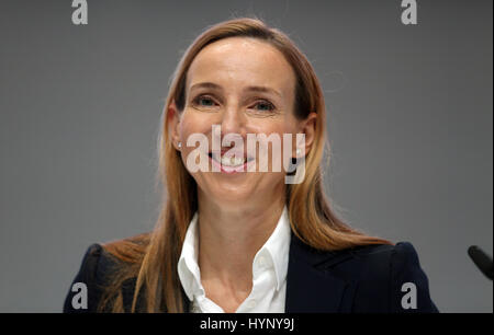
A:
[[[143,252],[143,241],[148,234],[139,234],[105,243],[93,243],[85,252],[64,302],[65,313],[97,312],[105,288],[114,275],[136,261]],[[141,249],[139,249],[141,246]]]

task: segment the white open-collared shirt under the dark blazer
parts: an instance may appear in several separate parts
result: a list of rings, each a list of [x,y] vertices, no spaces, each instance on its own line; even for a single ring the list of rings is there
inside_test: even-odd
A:
[[[178,263],[180,282],[191,301],[192,313],[224,313],[224,310],[205,296],[198,265],[198,213],[189,228]],[[277,227],[252,262],[252,289],[236,313],[284,313],[287,270],[290,247],[290,221],[287,206]]]

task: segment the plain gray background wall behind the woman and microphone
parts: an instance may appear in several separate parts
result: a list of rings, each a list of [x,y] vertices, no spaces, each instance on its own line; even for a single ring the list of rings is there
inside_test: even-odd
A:
[[[0,2],[0,311],[58,312],[86,249],[150,230],[168,80],[207,25],[256,14],[325,90],[326,183],[356,228],[409,241],[444,312],[492,312],[492,1]]]

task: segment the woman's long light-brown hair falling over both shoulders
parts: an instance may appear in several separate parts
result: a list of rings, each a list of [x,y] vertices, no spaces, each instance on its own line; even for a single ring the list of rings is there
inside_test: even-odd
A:
[[[317,114],[315,139],[305,158],[305,177],[300,184],[287,185],[287,207],[292,232],[305,244],[335,251],[368,244],[392,244],[369,236],[341,221],[324,194],[321,162],[326,141],[326,113],[323,91],[315,71],[304,54],[281,31],[257,18],[232,19],[207,27],[183,54],[170,83],[161,114],[158,137],[158,174],[162,185],[162,205],[156,227],[149,233],[103,244],[121,261],[105,287],[100,311],[124,312],[122,287],[135,280],[131,312],[187,312],[177,265],[187,228],[198,209],[197,183],[171,143],[168,107],[175,102],[179,111],[186,105],[186,78],[195,56],[209,44],[227,37],[261,39],[284,55],[296,77],[294,113],[305,119]],[[144,298],[144,303],[137,301]]]

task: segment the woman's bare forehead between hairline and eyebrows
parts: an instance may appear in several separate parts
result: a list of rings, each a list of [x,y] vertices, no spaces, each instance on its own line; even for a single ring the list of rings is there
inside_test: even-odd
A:
[[[295,76],[283,54],[270,44],[251,37],[228,37],[207,45],[192,61],[188,89],[203,81],[225,89],[262,85],[290,95]]]

